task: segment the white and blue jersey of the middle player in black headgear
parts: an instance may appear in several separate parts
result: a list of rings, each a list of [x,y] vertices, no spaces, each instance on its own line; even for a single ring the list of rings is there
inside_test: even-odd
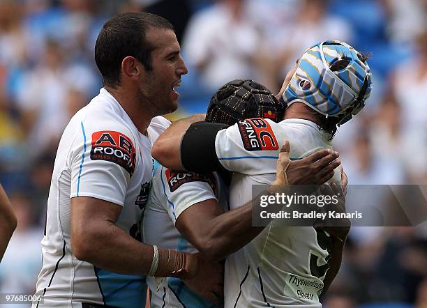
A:
[[[227,210],[226,193],[222,180],[215,173],[172,171],[157,164],[154,171],[149,203],[142,220],[143,241],[148,245],[195,253],[178,229],[175,222],[184,210],[208,199],[216,199]],[[169,277],[158,286],[153,277],[147,277],[152,292],[151,307],[214,307],[187,288],[181,279]]]

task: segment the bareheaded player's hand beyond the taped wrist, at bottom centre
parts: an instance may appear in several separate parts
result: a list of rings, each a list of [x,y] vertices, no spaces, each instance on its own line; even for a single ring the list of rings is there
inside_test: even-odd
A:
[[[197,258],[198,267],[195,275],[183,279],[184,284],[214,304],[223,305],[224,265],[219,262],[208,262],[201,254],[192,256]]]

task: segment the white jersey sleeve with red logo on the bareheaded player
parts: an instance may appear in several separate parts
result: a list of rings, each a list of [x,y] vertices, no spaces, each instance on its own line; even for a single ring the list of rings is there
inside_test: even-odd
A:
[[[135,171],[135,142],[118,123],[80,123],[68,153],[70,198],[94,197],[123,206]]]

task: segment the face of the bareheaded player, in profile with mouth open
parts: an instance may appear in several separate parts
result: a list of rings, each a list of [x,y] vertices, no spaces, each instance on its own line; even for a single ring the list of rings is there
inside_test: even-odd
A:
[[[146,72],[140,84],[143,97],[156,114],[168,114],[178,108],[181,75],[188,72],[177,36],[169,29],[149,29],[147,40],[154,46],[151,52],[152,70]]]

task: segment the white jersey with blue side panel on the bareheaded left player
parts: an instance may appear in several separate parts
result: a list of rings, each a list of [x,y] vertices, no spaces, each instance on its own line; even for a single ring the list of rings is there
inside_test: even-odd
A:
[[[70,198],[93,197],[122,206],[116,225],[141,240],[153,170],[151,144],[169,125],[163,117],[153,118],[145,136],[104,88],[70,120],[59,142],[47,201],[36,291],[43,303],[33,307],[81,308],[82,302],[144,306],[144,276],[119,275],[76,259],[70,245]]]

